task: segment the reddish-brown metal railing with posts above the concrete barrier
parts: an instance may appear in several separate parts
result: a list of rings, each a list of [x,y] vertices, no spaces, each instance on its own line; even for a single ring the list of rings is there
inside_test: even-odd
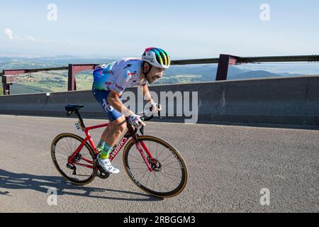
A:
[[[233,55],[220,55],[219,58],[204,58],[192,60],[172,60],[172,65],[199,65],[199,64],[218,64],[216,80],[226,80],[229,65],[240,65],[243,63],[261,62],[319,62],[319,55],[296,55],[296,56],[266,56],[266,57],[237,57]],[[57,70],[69,70],[68,90],[77,89],[75,73],[84,70],[94,69],[96,64],[69,65],[65,67],[50,67],[42,69],[28,70],[3,70],[0,76],[3,77],[4,94],[10,94],[10,83],[6,84],[6,75],[17,75],[33,72],[47,72]],[[9,81],[9,80],[8,80]],[[12,81],[12,79],[10,79]]]

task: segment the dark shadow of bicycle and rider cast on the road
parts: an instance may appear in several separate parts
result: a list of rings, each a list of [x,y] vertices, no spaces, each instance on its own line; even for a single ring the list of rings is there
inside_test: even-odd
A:
[[[137,192],[128,192],[114,189],[102,189],[97,187],[78,186],[67,182],[63,177],[38,176],[25,173],[15,173],[0,169],[0,196],[11,196],[10,192],[4,192],[2,189],[33,189],[37,192],[47,194],[49,188],[57,189],[57,195],[84,196],[95,199],[112,199],[121,201],[162,201],[163,199],[141,194]],[[2,191],[2,192],[1,192]],[[97,196],[92,192],[117,192],[120,194],[131,194],[143,196],[145,198],[124,198],[122,196]]]

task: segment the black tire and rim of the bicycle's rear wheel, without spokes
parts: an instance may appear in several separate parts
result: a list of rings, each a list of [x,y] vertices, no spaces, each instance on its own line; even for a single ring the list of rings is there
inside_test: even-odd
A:
[[[55,168],[57,169],[58,172],[60,172],[60,175],[62,175],[62,177],[67,179],[69,182],[72,182],[77,185],[85,185],[85,184],[91,183],[96,177],[93,169],[92,169],[91,175],[89,175],[86,179],[78,180],[78,179],[75,179],[74,177],[69,177],[67,173],[65,173],[65,171],[62,170],[62,167],[60,167],[59,163],[57,162],[56,148],[57,148],[57,144],[64,138],[77,140],[79,144],[81,144],[84,140],[83,138],[79,137],[79,135],[75,135],[72,133],[62,133],[60,135],[57,135],[57,137],[52,141],[52,145],[51,145],[51,158],[52,158],[53,164],[55,165]],[[89,155],[92,158],[92,160],[94,160],[95,154],[94,154],[94,150],[91,148],[91,145],[89,145],[89,143],[84,143],[84,147],[87,150],[89,150]],[[71,155],[72,153],[74,153],[74,151],[75,150],[72,150],[69,154]],[[65,159],[65,163],[67,163],[67,158]]]

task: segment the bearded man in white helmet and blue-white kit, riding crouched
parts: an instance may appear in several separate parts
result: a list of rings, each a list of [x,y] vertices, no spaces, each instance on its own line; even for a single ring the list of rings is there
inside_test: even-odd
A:
[[[106,172],[118,174],[120,170],[113,167],[109,154],[120,136],[126,129],[125,117],[135,128],[145,126],[140,116],[130,111],[122,103],[122,94],[127,87],[142,86],[145,99],[152,105],[154,113],[161,111],[162,107],[156,104],[147,84],[153,84],[161,79],[164,70],[169,68],[170,57],[162,49],[147,48],[140,58],[123,58],[111,64],[96,66],[94,70],[93,94],[112,122],[101,136],[96,150],[99,152],[99,165]]]

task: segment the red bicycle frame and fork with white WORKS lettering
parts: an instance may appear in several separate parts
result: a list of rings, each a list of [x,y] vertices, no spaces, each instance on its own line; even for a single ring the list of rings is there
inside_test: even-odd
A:
[[[82,150],[82,148],[84,147],[84,144],[86,142],[89,142],[89,144],[91,145],[91,147],[93,148],[94,150],[94,153],[96,155],[98,155],[98,152],[96,150],[96,146],[91,138],[91,135],[89,133],[89,131],[91,130],[94,130],[94,129],[97,129],[97,128],[104,128],[104,127],[108,127],[110,126],[111,123],[105,123],[105,124],[102,124],[102,125],[98,125],[98,126],[91,126],[91,127],[86,127],[86,128],[82,128],[82,131],[84,131],[85,135],[86,135],[86,138],[82,141],[81,145],[79,145],[79,148],[77,148],[77,150],[75,150],[75,152],[73,153],[73,155],[71,155],[69,157],[69,164],[71,165],[81,165],[81,166],[84,166],[84,167],[88,167],[90,169],[93,169],[93,161],[87,159],[86,157],[82,157],[82,160],[88,162],[88,164],[82,164],[82,163],[77,163],[77,162],[74,162],[74,157],[77,156],[77,154],[79,154],[79,152]],[[118,153],[122,150],[122,148],[124,147],[124,145],[128,142],[128,138],[126,138],[125,136],[123,136],[122,140],[118,143],[118,145],[116,145],[116,148],[113,149],[113,151],[111,152],[110,154],[110,160],[111,162],[113,161],[113,159],[116,157],[116,155],[118,155]],[[140,152],[140,155],[142,155],[142,158],[143,160],[145,161],[145,164],[147,165],[148,169],[150,170],[150,172],[153,171],[152,169],[152,166],[150,165],[150,162],[149,160],[147,160],[147,157],[144,153],[144,151],[142,150],[142,148],[145,150],[145,152],[147,153],[148,157],[150,158],[150,160],[154,160],[153,157],[152,157],[152,154],[150,153],[150,150],[147,149],[145,143],[143,141],[139,141],[138,140],[138,135],[133,135],[133,140],[134,140],[134,143],[136,145],[136,148],[138,148],[138,151]]]

